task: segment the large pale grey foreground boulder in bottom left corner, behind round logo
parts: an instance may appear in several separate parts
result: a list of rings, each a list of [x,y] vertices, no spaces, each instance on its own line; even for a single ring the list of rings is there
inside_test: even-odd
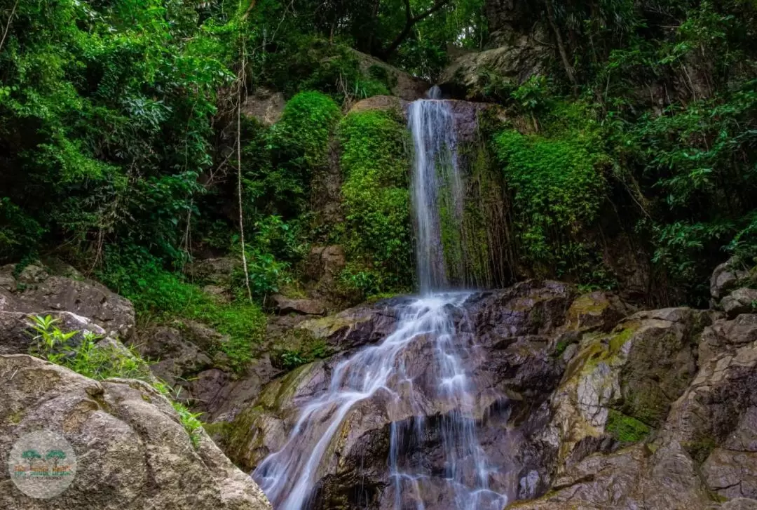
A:
[[[0,508],[270,508],[203,430],[193,445],[146,383],[98,383],[28,355],[0,355],[0,381],[0,458],[39,429],[63,436],[77,458],[73,483],[50,500],[20,493],[3,470]]]

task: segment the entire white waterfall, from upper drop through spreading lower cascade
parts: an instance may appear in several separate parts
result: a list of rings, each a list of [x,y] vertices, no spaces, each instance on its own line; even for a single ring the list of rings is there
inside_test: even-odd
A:
[[[335,436],[350,410],[371,399],[382,402],[389,417],[413,416],[391,421],[387,471],[392,497],[382,508],[501,510],[507,503],[507,496],[490,488],[497,469],[488,462],[476,435],[476,388],[465,363],[474,346],[469,340],[459,341],[453,321],[453,312],[470,294],[447,289],[441,248],[439,205],[445,205],[452,224],[461,214],[454,117],[449,104],[438,99],[413,102],[409,117],[415,146],[413,209],[421,296],[401,306],[397,330],[382,343],[335,366],[328,390],[301,409],[284,446],[254,471],[254,479],[276,510],[316,508],[316,480],[324,466],[332,465]],[[410,361],[418,355],[413,348],[422,342],[429,343],[434,355],[425,372],[417,374]],[[432,378],[431,395],[416,390],[419,377]],[[428,386],[428,380],[425,383]],[[423,418],[428,415],[423,412],[428,399],[445,410],[433,424]],[[407,451],[409,445],[422,444],[428,427],[439,429],[442,473],[431,473],[422,456]]]

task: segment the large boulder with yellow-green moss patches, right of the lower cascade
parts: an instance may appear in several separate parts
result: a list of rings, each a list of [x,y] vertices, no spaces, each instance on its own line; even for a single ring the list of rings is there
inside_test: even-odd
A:
[[[556,472],[569,473],[587,455],[644,439],[640,431],[659,427],[696,374],[696,343],[708,322],[706,312],[668,308],[638,312],[609,333],[584,334],[550,399],[553,418],[542,433],[559,448]]]

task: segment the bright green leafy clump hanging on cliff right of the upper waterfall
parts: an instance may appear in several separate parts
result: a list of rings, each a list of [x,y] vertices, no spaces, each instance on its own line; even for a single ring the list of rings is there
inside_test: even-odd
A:
[[[606,199],[606,156],[591,123],[582,127],[555,124],[547,136],[505,130],[494,138],[522,253],[537,273],[587,276],[579,267],[590,252],[583,239]]]

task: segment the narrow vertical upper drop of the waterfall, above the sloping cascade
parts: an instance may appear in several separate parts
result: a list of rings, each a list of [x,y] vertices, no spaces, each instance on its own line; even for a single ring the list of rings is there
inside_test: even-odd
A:
[[[416,258],[420,293],[449,286],[444,260],[442,212],[459,227],[463,214],[463,184],[457,164],[455,120],[450,105],[441,101],[438,86],[431,99],[419,99],[408,108],[413,134],[412,199],[415,213]]]

